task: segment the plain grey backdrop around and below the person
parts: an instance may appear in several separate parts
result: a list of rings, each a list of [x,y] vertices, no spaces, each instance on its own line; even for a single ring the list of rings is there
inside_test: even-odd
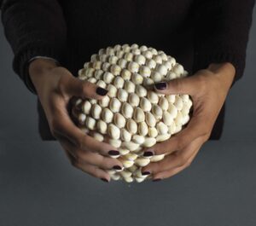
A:
[[[36,96],[12,71],[1,24],[0,226],[256,225],[255,20],[222,139],[174,177],[130,184],[90,177],[69,165],[58,142],[40,140]]]

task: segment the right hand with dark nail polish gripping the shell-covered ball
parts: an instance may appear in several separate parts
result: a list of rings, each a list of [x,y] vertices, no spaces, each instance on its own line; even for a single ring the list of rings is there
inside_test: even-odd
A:
[[[189,94],[193,101],[193,114],[189,124],[165,142],[143,151],[168,154],[159,162],[143,167],[144,175],[151,174],[153,181],[172,177],[191,165],[201,146],[209,139],[218,113],[234,80],[236,68],[230,63],[212,63],[193,76],[176,78],[167,83],[154,84],[162,94]]]

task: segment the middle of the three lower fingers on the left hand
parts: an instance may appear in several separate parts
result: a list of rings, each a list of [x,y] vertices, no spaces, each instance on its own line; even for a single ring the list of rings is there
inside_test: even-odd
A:
[[[118,159],[104,157],[101,154],[78,150],[77,147],[73,145],[73,143],[69,142],[66,138],[63,137],[59,137],[58,140],[60,141],[62,148],[67,150],[69,154],[72,154],[74,161],[77,161],[80,164],[96,165],[106,170],[122,170],[124,168]]]

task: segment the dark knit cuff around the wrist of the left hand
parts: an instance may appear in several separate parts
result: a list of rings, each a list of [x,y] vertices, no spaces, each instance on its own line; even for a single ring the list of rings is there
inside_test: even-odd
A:
[[[34,95],[38,95],[36,88],[32,84],[32,80],[28,73],[29,62],[33,57],[38,55],[45,55],[50,58],[54,58],[58,62],[62,62],[64,52],[60,49],[55,49],[54,47],[42,46],[28,47],[26,49],[20,50],[19,53],[15,55],[13,61],[13,69],[17,73],[20,79],[26,85],[26,88],[32,92]]]

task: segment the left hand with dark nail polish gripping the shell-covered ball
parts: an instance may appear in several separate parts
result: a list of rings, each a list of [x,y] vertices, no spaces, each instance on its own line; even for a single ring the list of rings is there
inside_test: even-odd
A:
[[[50,132],[61,143],[71,164],[93,177],[109,182],[106,170],[123,168],[116,148],[106,142],[98,142],[84,134],[72,121],[68,106],[73,96],[102,99],[108,90],[81,80],[65,67],[57,67],[54,61],[37,59],[29,64],[29,76],[49,122]],[[109,151],[111,151],[109,153]],[[118,168],[118,166],[120,168]]]

